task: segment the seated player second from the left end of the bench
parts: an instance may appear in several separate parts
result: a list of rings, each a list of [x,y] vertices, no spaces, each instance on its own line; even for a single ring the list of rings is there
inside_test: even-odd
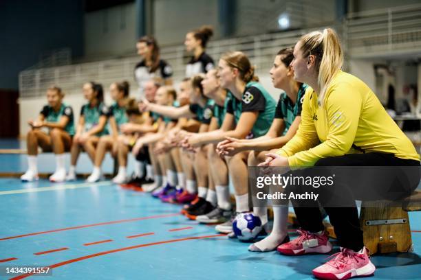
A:
[[[108,134],[108,130],[105,128],[108,108],[104,104],[102,85],[95,82],[87,82],[83,85],[83,96],[88,102],[80,110],[79,123],[70,150],[72,159],[66,180],[76,180],[76,163],[80,150],[85,150],[89,159],[94,162],[99,137]]]

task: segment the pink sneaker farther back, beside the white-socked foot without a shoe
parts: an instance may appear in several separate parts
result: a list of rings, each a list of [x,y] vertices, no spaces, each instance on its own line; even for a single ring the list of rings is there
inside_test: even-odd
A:
[[[296,239],[279,245],[277,250],[284,255],[304,255],[308,253],[325,254],[332,250],[332,244],[329,242],[329,236],[325,231],[323,234],[310,233],[299,229],[300,234]]]

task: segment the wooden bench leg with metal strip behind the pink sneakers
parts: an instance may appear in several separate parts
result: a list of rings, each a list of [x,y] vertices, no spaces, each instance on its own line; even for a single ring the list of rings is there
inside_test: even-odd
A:
[[[375,253],[408,252],[412,246],[408,213],[401,207],[363,202],[360,213],[364,244]]]

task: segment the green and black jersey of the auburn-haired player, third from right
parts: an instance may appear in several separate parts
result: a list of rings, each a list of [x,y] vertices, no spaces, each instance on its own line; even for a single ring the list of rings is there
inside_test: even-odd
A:
[[[230,97],[230,103],[226,113],[234,115],[236,124],[238,124],[241,113],[259,112],[255,125],[246,138],[252,139],[266,135],[272,124],[277,104],[268,91],[258,82],[248,82],[241,101],[237,100],[232,93],[228,93],[227,96]]]

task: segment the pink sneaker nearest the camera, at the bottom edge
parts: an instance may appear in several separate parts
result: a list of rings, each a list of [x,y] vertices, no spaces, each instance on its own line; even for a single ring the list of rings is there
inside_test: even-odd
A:
[[[331,256],[323,266],[314,268],[313,275],[319,279],[349,279],[374,275],[376,267],[371,263],[368,249],[356,253],[351,249],[341,248],[341,252]]]

